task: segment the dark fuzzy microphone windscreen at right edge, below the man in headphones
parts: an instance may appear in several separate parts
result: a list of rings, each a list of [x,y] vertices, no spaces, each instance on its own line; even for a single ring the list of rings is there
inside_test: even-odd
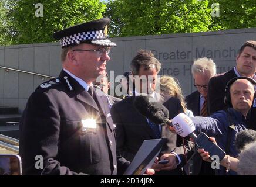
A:
[[[237,136],[235,136],[235,146],[239,152],[241,152],[248,143],[252,143],[253,141],[256,141],[255,130],[246,129],[240,131],[237,133]]]

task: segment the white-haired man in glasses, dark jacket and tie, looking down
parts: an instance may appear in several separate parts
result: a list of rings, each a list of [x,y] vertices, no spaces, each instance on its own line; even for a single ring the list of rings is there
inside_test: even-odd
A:
[[[207,110],[204,109],[206,109],[208,82],[216,74],[216,65],[209,58],[198,58],[194,61],[191,72],[197,91],[186,97],[187,109],[191,110],[194,116],[207,116]]]

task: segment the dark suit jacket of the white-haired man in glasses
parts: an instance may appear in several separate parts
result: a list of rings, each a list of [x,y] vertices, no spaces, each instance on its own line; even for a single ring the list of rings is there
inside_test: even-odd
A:
[[[194,116],[200,116],[200,93],[194,91],[186,97],[187,109],[193,112]]]

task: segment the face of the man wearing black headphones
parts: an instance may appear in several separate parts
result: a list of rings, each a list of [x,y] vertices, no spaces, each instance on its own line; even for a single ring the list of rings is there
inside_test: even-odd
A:
[[[230,87],[231,103],[235,110],[247,113],[254,98],[254,86],[246,79],[238,79]]]

